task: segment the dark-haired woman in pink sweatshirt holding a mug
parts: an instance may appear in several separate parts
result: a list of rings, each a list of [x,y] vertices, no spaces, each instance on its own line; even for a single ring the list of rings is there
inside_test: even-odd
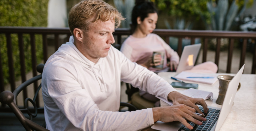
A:
[[[132,25],[135,31],[122,44],[121,52],[130,59],[155,73],[176,70],[179,63],[179,56],[163,39],[152,34],[155,29],[158,14],[152,2],[139,1],[132,10]],[[163,55],[155,55],[152,60],[153,52],[162,52]],[[157,67],[163,60],[162,68]],[[170,63],[167,64],[167,59]],[[154,63],[153,63],[154,61]],[[213,62],[205,62],[194,66],[190,72],[216,73],[218,67]],[[156,101],[153,95],[140,91],[140,95],[144,98]]]

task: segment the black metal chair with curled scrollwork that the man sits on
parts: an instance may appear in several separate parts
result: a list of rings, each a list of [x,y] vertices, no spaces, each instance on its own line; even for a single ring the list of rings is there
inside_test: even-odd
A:
[[[37,66],[37,71],[39,73],[41,73],[40,75],[35,76],[32,79],[29,79],[29,80],[25,81],[19,87],[17,87],[14,90],[14,92],[6,90],[6,91],[3,91],[0,94],[0,102],[2,104],[7,104],[12,109],[12,111],[15,114],[15,116],[19,119],[20,123],[23,125],[23,127],[26,129],[26,131],[34,131],[34,130],[37,130],[37,131],[49,131],[49,130],[47,130],[45,128],[45,123],[41,126],[41,125],[38,125],[37,123],[33,122],[33,119],[32,119],[32,118],[37,116],[39,110],[41,110],[41,112],[43,112],[43,110],[44,110],[44,108],[38,108],[36,106],[36,103],[35,103],[36,98],[38,96],[38,92],[39,92],[39,90],[42,87],[41,84],[38,86],[33,100],[30,99],[30,98],[26,98],[25,99],[25,109],[19,109],[19,107],[16,104],[16,98],[17,98],[17,96],[19,95],[19,93],[23,89],[25,89],[28,85],[38,81],[39,79],[42,79],[43,69],[44,69],[44,64],[39,64]],[[30,101],[32,103],[32,105],[34,106],[34,112],[33,113],[31,113],[29,111],[29,109],[28,109],[28,106],[27,106],[27,104],[28,104],[27,102],[28,101]],[[131,105],[130,103],[120,102],[120,107],[121,106],[128,107],[128,111],[135,111],[135,110],[137,110],[137,108],[135,106]],[[23,115],[22,112],[26,112],[29,115],[30,118],[27,119]]]

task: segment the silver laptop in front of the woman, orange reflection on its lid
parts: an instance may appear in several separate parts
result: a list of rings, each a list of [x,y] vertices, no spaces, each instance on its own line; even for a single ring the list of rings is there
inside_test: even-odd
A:
[[[189,70],[192,67],[194,67],[195,60],[199,54],[200,48],[201,48],[201,44],[184,46],[184,49],[181,54],[180,61],[176,70],[177,73],[180,73],[184,70]]]

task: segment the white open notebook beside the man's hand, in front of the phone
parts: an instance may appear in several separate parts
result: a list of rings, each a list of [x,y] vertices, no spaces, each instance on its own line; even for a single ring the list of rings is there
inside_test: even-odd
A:
[[[180,91],[181,94],[192,97],[192,98],[202,98],[204,100],[210,99],[211,97],[213,97],[213,93],[212,92],[208,92],[208,91],[204,91],[204,90],[197,90],[194,88],[189,88],[188,90],[182,90]],[[169,105],[173,105],[172,101],[170,100],[166,100],[163,97],[160,96],[156,96],[158,99],[166,102]]]

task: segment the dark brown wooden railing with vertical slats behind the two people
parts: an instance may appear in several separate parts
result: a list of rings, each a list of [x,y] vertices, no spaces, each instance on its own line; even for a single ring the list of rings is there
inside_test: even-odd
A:
[[[37,75],[36,72],[36,50],[35,50],[35,34],[41,34],[43,38],[43,59],[44,63],[48,59],[48,43],[47,43],[47,35],[54,34],[55,35],[55,51],[58,50],[60,46],[59,35],[67,34],[66,41],[69,40],[69,36],[71,36],[69,28],[33,28],[33,27],[0,27],[0,33],[6,35],[7,49],[8,49],[8,66],[9,66],[9,79],[11,85],[11,91],[15,90],[15,73],[14,73],[14,65],[13,65],[13,56],[12,56],[12,41],[11,34],[18,34],[19,39],[19,50],[20,50],[20,73],[22,82],[26,81],[26,71],[25,71],[25,58],[24,58],[24,49],[23,49],[23,34],[30,35],[30,44],[31,44],[31,57],[32,57],[32,73],[33,76]],[[169,43],[169,37],[174,36],[178,37],[178,49],[177,53],[181,56],[182,53],[182,38],[189,37],[191,39],[191,44],[195,44],[195,38],[203,38],[203,58],[202,62],[206,62],[207,58],[207,48],[208,48],[208,39],[217,38],[217,46],[216,46],[216,55],[215,55],[215,63],[219,64],[219,55],[220,55],[220,43],[221,38],[229,38],[229,49],[228,49],[228,61],[227,61],[227,70],[226,73],[230,73],[231,69],[231,60],[234,49],[234,41],[235,39],[243,39],[243,44],[241,48],[241,57],[240,57],[240,67],[245,62],[245,54],[246,54],[246,46],[247,39],[256,39],[256,33],[253,32],[239,32],[239,31],[209,31],[209,30],[166,30],[166,29],[156,29],[154,30],[155,34],[164,38],[166,43]],[[116,29],[114,35],[117,36],[117,43],[121,43],[122,35],[130,35],[130,29],[119,28]],[[256,47],[253,53],[253,65],[252,65],[252,74],[255,74],[256,70]],[[2,52],[1,52],[2,53]],[[4,91],[4,83],[3,83],[3,71],[2,71],[2,61],[1,61],[1,53],[0,53],[0,92]],[[34,88],[36,89],[38,84],[34,84]],[[26,90],[23,91],[23,97],[27,98]],[[37,99],[37,102],[38,99]],[[39,105],[37,105],[39,106]]]

